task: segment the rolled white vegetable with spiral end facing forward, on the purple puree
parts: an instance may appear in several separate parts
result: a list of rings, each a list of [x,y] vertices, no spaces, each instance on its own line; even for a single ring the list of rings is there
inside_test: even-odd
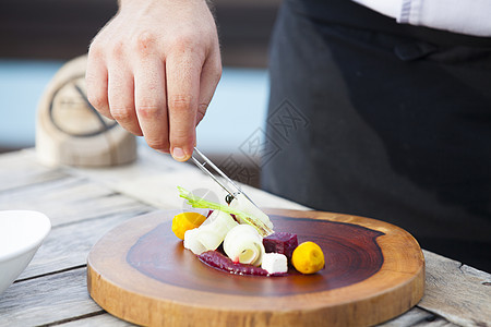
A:
[[[233,227],[225,237],[224,251],[235,263],[260,266],[263,255],[263,238],[249,225]]]

